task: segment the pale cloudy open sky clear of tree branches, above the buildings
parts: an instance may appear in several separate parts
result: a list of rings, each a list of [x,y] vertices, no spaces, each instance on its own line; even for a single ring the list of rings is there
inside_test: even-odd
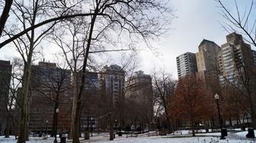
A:
[[[238,2],[242,2],[241,5],[244,6],[251,1]],[[177,78],[176,56],[186,52],[198,52],[198,45],[203,39],[214,41],[218,45],[224,44],[228,32],[220,26],[224,20],[217,5],[215,0],[170,0],[170,7],[176,17],[171,23],[171,29],[154,42],[158,54],[147,48],[139,50],[138,70],[151,75],[154,69],[164,69],[173,78]],[[235,8],[233,0],[225,0],[225,5],[230,6],[231,10]],[[44,53],[46,57],[49,56],[49,51]],[[13,55],[18,54],[12,48],[0,49],[0,59],[11,60]]]

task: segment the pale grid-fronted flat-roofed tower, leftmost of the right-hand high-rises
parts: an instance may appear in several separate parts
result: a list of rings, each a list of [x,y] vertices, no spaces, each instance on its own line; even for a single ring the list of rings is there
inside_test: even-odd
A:
[[[195,53],[183,53],[176,57],[178,77],[197,72]]]

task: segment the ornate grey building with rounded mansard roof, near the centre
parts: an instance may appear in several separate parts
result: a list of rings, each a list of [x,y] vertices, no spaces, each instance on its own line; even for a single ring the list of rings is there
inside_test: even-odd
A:
[[[101,88],[109,97],[113,107],[123,100],[125,71],[119,65],[105,65],[100,72]]]

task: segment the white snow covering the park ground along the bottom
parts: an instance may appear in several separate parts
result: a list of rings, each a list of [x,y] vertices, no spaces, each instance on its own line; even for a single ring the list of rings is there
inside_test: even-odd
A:
[[[185,133],[185,131],[183,131]],[[192,137],[189,134],[183,135],[166,135],[166,136],[150,136],[148,137],[147,134],[130,136],[130,135],[123,135],[117,136],[114,141],[109,141],[109,135],[95,135],[90,137],[89,140],[82,140],[81,142],[101,142],[101,143],[252,143],[256,142],[256,139],[245,138],[245,132],[237,132],[237,133],[229,133],[226,136],[225,140],[220,140],[220,132],[214,133],[201,133],[196,134],[197,136]],[[14,136],[11,138],[4,138],[5,136],[0,136],[0,143],[14,143],[17,142]],[[83,139],[83,138],[81,138]],[[27,143],[52,143],[54,138],[39,138],[39,137],[31,137],[30,141]],[[60,142],[60,138],[58,138],[58,142]],[[71,142],[71,141],[67,141]]]

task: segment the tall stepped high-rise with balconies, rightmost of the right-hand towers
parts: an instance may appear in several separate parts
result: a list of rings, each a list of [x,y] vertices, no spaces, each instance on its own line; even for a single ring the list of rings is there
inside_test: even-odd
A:
[[[231,33],[226,35],[226,43],[221,45],[219,53],[220,84],[239,84],[241,76],[255,71],[255,51],[245,44],[242,35]],[[251,76],[253,81],[254,76]]]

